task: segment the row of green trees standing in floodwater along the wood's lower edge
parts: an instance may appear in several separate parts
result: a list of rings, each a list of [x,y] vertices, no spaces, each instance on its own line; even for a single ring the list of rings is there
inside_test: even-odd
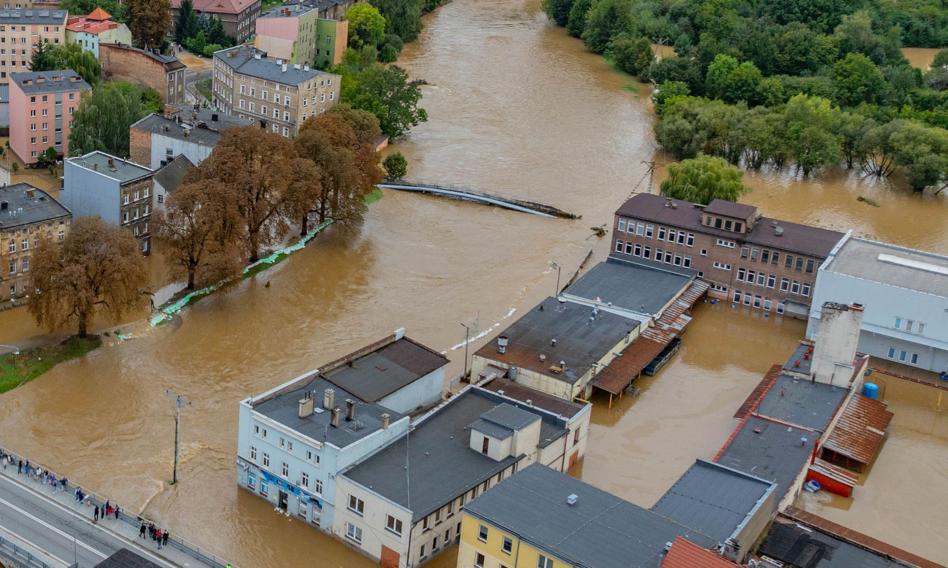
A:
[[[840,163],[886,177],[902,170],[916,191],[948,181],[948,132],[919,122],[879,122],[829,100],[796,95],[785,105],[748,108],[702,97],[659,103],[659,143],[676,158],[700,153],[748,168],[797,167],[804,175]]]

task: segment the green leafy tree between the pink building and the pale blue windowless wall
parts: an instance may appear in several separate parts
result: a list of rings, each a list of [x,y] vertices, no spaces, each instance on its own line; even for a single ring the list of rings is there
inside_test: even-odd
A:
[[[69,152],[79,156],[101,150],[127,157],[128,129],[153,111],[143,101],[154,96],[154,89],[123,82],[106,83],[93,89],[91,94],[82,98],[76,109],[69,131]]]

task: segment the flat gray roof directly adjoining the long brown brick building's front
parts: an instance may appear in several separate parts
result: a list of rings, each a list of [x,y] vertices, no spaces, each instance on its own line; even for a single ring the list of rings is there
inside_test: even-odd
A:
[[[690,270],[670,269],[658,263],[610,258],[594,266],[563,293],[656,315],[688,287],[694,275]]]

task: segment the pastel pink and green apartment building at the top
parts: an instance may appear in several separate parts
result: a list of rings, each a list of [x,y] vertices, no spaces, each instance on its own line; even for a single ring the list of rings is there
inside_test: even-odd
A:
[[[290,63],[326,68],[342,61],[349,22],[342,19],[354,2],[329,0],[277,6],[257,19],[254,45]]]

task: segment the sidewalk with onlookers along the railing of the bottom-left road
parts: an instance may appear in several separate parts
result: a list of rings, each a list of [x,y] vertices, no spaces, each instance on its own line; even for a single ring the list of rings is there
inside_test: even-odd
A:
[[[75,484],[67,482],[66,488],[64,489],[59,481],[62,479],[61,476],[53,477],[52,475],[48,475],[47,481],[44,482],[43,476],[38,475],[36,472],[45,471],[45,468],[33,463],[30,464],[33,467],[33,473],[31,475],[27,475],[25,471],[22,474],[17,474],[17,461],[20,458],[16,455],[14,455],[13,458],[14,464],[12,466],[8,464],[5,468],[0,467],[0,476],[16,483],[24,494],[32,493],[39,498],[55,503],[59,508],[65,510],[64,514],[68,511],[72,522],[75,522],[75,516],[78,516],[84,519],[87,524],[92,525],[95,506],[98,505],[102,508],[105,503],[103,498],[83,490],[83,492],[86,493],[86,497],[82,503],[78,503],[75,496]],[[24,460],[24,463],[25,461],[26,460]],[[51,484],[50,479],[56,480],[55,485]],[[112,506],[115,506],[115,504],[113,503]],[[119,506],[121,507],[121,505]],[[175,534],[173,527],[168,529],[171,534],[168,545],[162,546],[161,549],[159,549],[157,543],[148,537],[147,531],[145,538],[139,538],[139,527],[142,521],[146,524],[149,522],[147,518],[130,515],[125,512],[124,508],[121,508],[118,519],[116,519],[114,515],[108,519],[100,518],[98,523],[95,523],[94,526],[122,541],[124,543],[123,546],[126,548],[138,553],[142,552],[140,549],[144,549],[174,566],[202,568],[224,568],[225,566],[231,566],[224,560],[217,558],[211,552],[201,550],[197,546],[180,538],[180,535]],[[157,523],[155,523],[155,526],[162,530],[166,529],[166,527],[160,526]]]

